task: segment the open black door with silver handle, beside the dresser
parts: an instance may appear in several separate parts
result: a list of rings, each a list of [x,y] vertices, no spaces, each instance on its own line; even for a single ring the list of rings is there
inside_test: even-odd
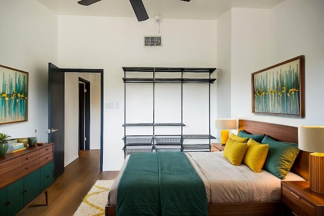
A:
[[[53,142],[55,181],[64,171],[64,71],[49,63],[49,142]]]

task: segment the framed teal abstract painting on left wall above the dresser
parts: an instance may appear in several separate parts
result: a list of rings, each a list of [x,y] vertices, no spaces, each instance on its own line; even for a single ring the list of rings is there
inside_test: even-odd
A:
[[[28,120],[28,73],[0,65],[0,124]]]

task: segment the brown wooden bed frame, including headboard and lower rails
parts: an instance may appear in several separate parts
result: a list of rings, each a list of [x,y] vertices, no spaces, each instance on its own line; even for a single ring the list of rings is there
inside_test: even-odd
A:
[[[281,124],[238,120],[238,129],[244,129],[250,134],[265,134],[274,140],[298,143],[298,128]],[[291,169],[295,174],[309,179],[309,159],[308,152],[300,151],[294,165]],[[280,201],[276,202],[245,202],[245,203],[220,203],[209,204],[209,215],[240,215],[240,216],[257,216],[257,215],[279,215]],[[116,215],[116,206],[106,205],[106,216]]]

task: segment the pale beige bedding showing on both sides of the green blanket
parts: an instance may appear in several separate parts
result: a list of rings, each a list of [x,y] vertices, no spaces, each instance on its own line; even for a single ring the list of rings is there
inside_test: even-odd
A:
[[[262,202],[280,200],[280,179],[262,170],[256,174],[247,165],[234,166],[223,152],[186,152],[197,174],[203,180],[208,203]],[[109,205],[116,205],[117,186],[128,161],[108,193]],[[282,181],[305,181],[289,172]]]

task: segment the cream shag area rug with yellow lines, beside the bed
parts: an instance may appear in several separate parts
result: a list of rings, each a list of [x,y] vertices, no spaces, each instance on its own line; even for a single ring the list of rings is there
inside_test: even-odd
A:
[[[115,180],[97,180],[82,203],[76,209],[74,216],[105,215],[105,206],[108,201],[108,191]]]

